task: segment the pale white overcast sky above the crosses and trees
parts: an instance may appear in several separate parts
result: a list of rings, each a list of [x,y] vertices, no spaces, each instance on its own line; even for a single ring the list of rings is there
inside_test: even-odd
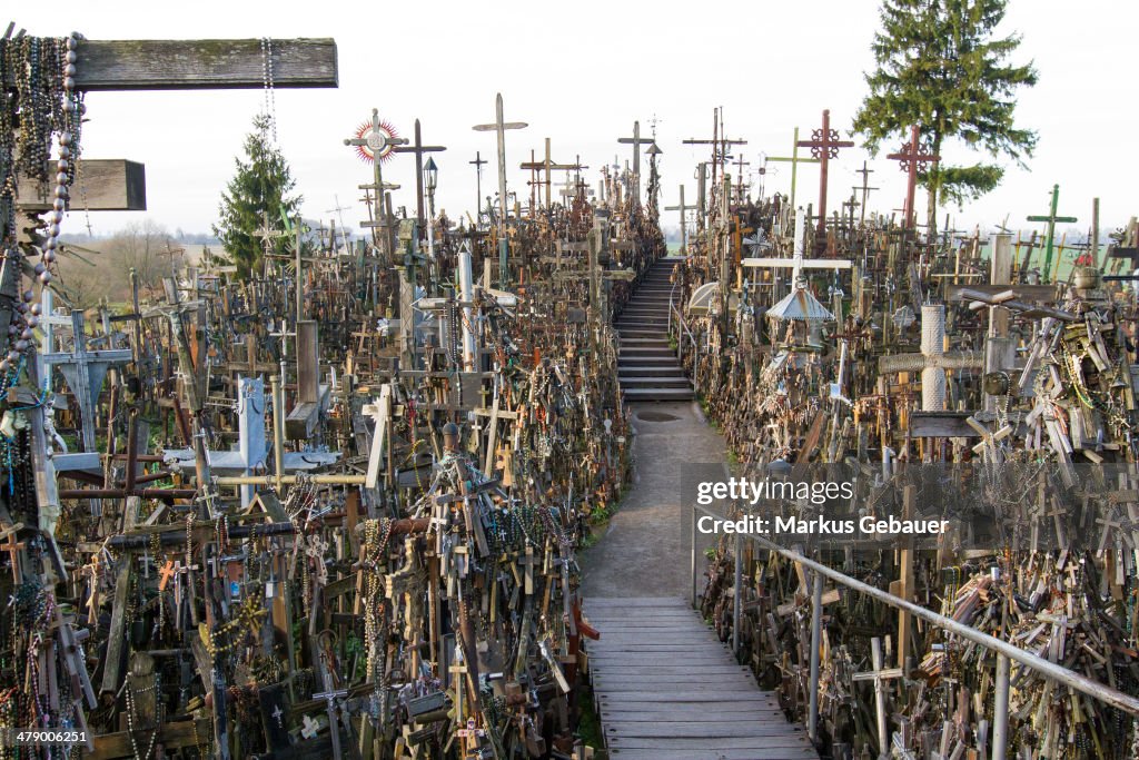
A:
[[[304,214],[330,219],[338,197],[341,206],[352,206],[345,221],[355,223],[366,218],[357,186],[370,181],[371,172],[343,139],[372,107],[404,137],[420,119],[424,141],[448,146],[435,155],[437,205],[456,218],[474,206],[475,170],[468,162],[476,150],[492,161],[483,167],[483,195],[493,191],[494,136],[470,128],[493,121],[498,91],[507,120],[530,124],[507,133],[509,181],[519,197],[528,197],[528,174],[517,166],[531,149],[542,153],[543,138],[552,139],[555,161],[568,163],[580,154],[596,187],[601,164],[631,156],[616,139],[632,133],[633,120],[648,132],[655,116],[664,150],[663,202],[677,202],[680,183],[691,201],[695,164],[707,152],[681,140],[711,137],[715,106],[723,106],[729,137],[748,141],[743,150],[751,170],[763,154],[787,155],[794,126],[809,134],[823,108],[830,108],[835,128],[850,129],[866,93],[863,72],[872,64],[877,5],[57,0],[47,14],[19,2],[10,18],[32,34],[75,30],[103,40],[334,38],[339,88],[278,90],[278,134],[304,195]],[[1024,36],[1014,62],[1033,60],[1040,72],[1040,83],[1022,91],[1017,122],[1036,129],[1040,145],[1029,167],[1010,166],[998,190],[964,212],[951,207],[956,226],[988,229],[1008,215],[1010,227],[1027,228],[1024,216],[1047,211],[1056,182],[1060,212],[1079,216],[1081,230],[1097,195],[1103,226],[1122,224],[1139,210],[1133,89],[1139,2],[1009,5],[1002,31]],[[149,206],[147,212],[92,214],[96,232],[145,215],[171,231],[208,230],[262,103],[261,90],[90,95],[84,155],[144,162]],[[861,147],[849,148],[831,164],[831,209],[859,182],[854,170],[867,157]],[[871,194],[870,207],[885,213],[901,207],[904,175],[898,165],[884,158],[870,165],[876,172],[871,185],[880,188]],[[768,174],[768,191],[786,191],[789,166],[777,165],[775,172]],[[385,180],[403,186],[395,194],[398,206],[415,206],[413,173],[412,156],[385,164]],[[798,187],[803,202],[813,201],[818,170],[804,166]],[[924,209],[923,197],[918,210]],[[675,214],[664,221],[674,224]],[[64,230],[82,227],[82,214],[72,213]]]

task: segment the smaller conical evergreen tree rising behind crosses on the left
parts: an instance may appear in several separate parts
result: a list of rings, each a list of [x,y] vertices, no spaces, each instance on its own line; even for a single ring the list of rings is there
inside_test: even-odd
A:
[[[271,119],[264,114],[253,119],[253,132],[246,136],[244,146],[247,163],[233,160],[237,172],[221,195],[220,221],[213,226],[214,235],[243,279],[261,267],[264,247],[254,232],[262,226],[265,214],[270,223],[280,218],[281,207],[289,218],[295,216],[302,201],[301,196],[289,197],[296,180],[285,156],[269,139],[271,126]],[[287,244],[277,238],[272,245],[274,253],[284,254]]]

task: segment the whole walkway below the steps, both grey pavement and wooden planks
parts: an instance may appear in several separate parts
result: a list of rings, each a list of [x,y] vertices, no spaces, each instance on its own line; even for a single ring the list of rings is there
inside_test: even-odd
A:
[[[633,404],[637,476],[583,553],[590,673],[612,760],[808,760],[806,732],[688,603],[690,463],[722,476],[723,439],[693,403]],[[690,487],[690,484],[689,484]]]

